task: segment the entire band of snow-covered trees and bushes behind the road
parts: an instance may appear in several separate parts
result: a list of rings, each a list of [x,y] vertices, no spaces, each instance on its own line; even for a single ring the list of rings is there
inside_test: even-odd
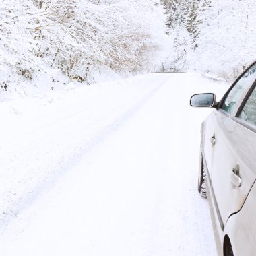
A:
[[[255,0],[1,0],[0,98],[152,71],[232,81],[255,59],[255,8]]]

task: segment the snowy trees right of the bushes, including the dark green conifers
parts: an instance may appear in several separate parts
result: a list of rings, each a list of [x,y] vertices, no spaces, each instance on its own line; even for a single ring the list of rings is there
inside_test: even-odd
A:
[[[162,0],[172,40],[166,71],[232,81],[256,59],[255,0]]]

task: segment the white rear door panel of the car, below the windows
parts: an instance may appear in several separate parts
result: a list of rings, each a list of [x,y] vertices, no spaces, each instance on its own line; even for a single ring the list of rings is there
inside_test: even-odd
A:
[[[256,145],[256,134],[220,111],[214,113],[213,119],[218,132],[215,135],[210,178],[218,210],[225,224],[231,214],[241,209],[256,179],[255,149],[247,150],[249,144]],[[240,187],[232,183],[233,169],[238,171],[241,178]]]

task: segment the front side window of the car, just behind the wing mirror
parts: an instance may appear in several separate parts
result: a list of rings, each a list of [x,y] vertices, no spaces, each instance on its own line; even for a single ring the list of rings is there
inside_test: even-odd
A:
[[[227,113],[232,113],[232,110],[236,107],[238,100],[241,98],[243,93],[253,84],[256,79],[256,63],[252,65],[246,73],[236,82],[234,87],[230,90],[226,96],[222,109]]]

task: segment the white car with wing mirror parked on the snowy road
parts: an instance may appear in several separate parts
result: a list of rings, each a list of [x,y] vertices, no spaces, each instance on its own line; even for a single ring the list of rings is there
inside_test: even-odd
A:
[[[201,125],[198,190],[208,197],[220,255],[256,255],[256,61],[220,102],[195,94],[191,106],[212,107]]]

